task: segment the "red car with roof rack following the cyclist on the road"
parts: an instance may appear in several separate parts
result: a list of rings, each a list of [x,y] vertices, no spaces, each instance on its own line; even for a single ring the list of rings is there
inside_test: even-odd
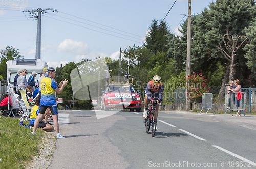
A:
[[[141,92],[138,92],[141,93]],[[111,84],[102,91],[101,110],[130,109],[141,110],[141,98],[130,84]]]

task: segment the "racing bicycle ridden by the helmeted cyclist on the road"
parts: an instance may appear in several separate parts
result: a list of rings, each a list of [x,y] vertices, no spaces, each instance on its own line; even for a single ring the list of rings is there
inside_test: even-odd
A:
[[[150,103],[150,104],[147,104],[147,105],[150,105],[150,107],[147,109],[147,117],[144,120],[145,126],[146,126],[146,133],[148,133],[150,131],[150,128],[151,128],[151,136],[154,137],[155,133],[156,133],[156,128],[157,128],[157,119],[154,120],[154,114],[157,113],[156,106],[160,105],[160,104],[158,104],[154,100],[153,103]],[[160,106],[164,107],[164,105],[160,105]],[[155,124],[155,128],[154,128],[154,124]]]

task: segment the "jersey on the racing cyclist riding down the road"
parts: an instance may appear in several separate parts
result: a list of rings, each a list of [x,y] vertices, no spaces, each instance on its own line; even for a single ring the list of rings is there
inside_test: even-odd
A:
[[[164,90],[164,86],[163,83],[160,83],[159,88],[154,88],[154,83],[153,80],[149,81],[147,83],[146,89],[145,89],[145,94],[147,94],[147,99],[151,100],[155,97],[156,99],[159,99],[160,101],[162,101],[163,98],[163,90]]]

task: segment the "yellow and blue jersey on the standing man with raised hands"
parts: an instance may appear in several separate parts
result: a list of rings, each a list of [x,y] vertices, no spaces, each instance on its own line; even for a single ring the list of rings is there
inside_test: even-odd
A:
[[[42,97],[40,104],[43,106],[56,105],[55,91],[58,88],[57,83],[51,77],[45,77],[41,80]]]

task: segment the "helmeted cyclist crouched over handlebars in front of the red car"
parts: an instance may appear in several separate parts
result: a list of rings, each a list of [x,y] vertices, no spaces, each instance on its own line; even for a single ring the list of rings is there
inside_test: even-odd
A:
[[[157,103],[160,103],[163,98],[163,90],[164,86],[163,83],[161,82],[162,79],[160,76],[156,75],[153,77],[152,81],[149,81],[147,83],[146,89],[145,89],[145,100],[144,100],[144,112],[143,112],[143,117],[147,117],[147,104],[150,104],[150,101],[153,102],[153,100],[156,100]],[[157,117],[158,117],[158,106],[156,106],[157,110]],[[154,114],[154,120],[157,119]],[[157,128],[156,128],[157,130]]]

